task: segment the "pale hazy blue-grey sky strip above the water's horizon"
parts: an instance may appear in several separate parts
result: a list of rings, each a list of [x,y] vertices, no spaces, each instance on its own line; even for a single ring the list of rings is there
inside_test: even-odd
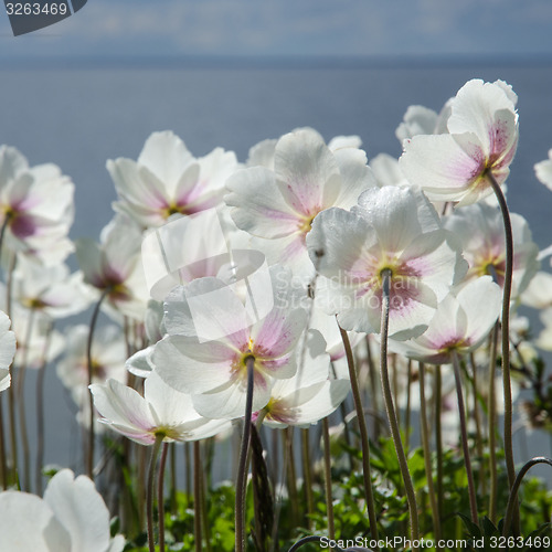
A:
[[[78,13],[13,38],[19,57],[550,56],[552,0],[88,0]]]

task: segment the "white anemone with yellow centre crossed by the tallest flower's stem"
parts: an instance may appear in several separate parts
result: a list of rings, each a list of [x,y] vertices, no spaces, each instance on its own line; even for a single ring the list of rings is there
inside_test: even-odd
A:
[[[512,298],[528,287],[539,269],[539,247],[532,241],[529,224],[523,216],[510,213],[513,234]],[[464,258],[468,262],[467,278],[485,274],[496,276],[503,286],[506,272],[505,224],[498,209],[485,203],[455,209],[444,220],[445,227],[461,242]]]

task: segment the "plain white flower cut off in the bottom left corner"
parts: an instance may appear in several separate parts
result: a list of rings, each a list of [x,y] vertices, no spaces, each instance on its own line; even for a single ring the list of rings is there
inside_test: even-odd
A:
[[[121,552],[125,538],[112,539],[109,511],[94,482],[62,469],[44,498],[0,492],[2,552]]]

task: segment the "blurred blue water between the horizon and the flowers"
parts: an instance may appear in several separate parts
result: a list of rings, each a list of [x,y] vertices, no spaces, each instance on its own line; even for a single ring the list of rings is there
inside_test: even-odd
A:
[[[245,160],[257,141],[311,126],[326,139],[359,135],[369,157],[399,157],[394,130],[407,106],[439,109],[473,77],[502,78],[519,95],[521,137],[508,201],[544,247],[552,242],[552,192],[532,167],[552,148],[552,64],[3,70],[0,144],[18,147],[31,164],[55,162],[70,174],[76,184],[71,235],[97,240],[115,199],[106,160],[136,158],[153,130],[173,130],[197,156],[222,146]],[[78,446],[78,437],[53,371],[46,460],[67,465],[75,460],[68,439]]]

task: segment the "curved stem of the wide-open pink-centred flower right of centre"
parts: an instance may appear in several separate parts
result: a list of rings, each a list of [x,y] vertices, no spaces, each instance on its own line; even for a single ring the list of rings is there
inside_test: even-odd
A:
[[[399,428],[399,421],[396,418],[395,407],[393,405],[393,395],[391,393],[391,385],[389,382],[388,370],[388,335],[389,335],[389,309],[390,309],[390,285],[391,285],[391,270],[385,268],[382,270],[382,311],[381,311],[381,335],[380,335],[380,374],[383,389],[383,399],[385,402],[385,410],[388,412],[388,420],[391,428],[391,436],[395,445],[396,457],[399,459],[399,467],[403,476],[404,489],[406,491],[406,500],[408,502],[408,513],[411,519],[411,538],[417,541],[420,538],[416,493],[414,485],[408,471],[408,463],[404,454],[403,443],[401,440],[401,429]]]

